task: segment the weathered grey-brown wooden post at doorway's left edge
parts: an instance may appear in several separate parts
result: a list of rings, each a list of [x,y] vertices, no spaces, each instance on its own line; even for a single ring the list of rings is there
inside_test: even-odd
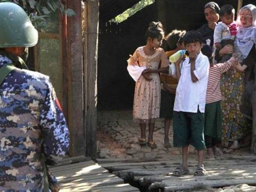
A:
[[[86,113],[86,155],[96,155],[96,121],[97,121],[97,59],[99,36],[99,0],[89,0],[84,6],[85,44],[84,44],[84,77]]]

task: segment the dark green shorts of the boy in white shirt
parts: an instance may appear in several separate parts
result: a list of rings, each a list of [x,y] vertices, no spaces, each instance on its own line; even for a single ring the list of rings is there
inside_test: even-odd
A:
[[[205,149],[204,113],[173,111],[173,145],[184,147],[189,144],[198,151]]]

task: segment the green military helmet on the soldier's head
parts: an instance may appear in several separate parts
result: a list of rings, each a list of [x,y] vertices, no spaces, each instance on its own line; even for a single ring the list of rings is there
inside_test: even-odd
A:
[[[38,42],[38,31],[15,3],[0,3],[0,26],[0,48],[33,47]]]

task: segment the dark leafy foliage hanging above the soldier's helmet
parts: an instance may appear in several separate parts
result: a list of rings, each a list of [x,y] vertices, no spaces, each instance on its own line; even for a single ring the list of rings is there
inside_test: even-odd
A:
[[[46,24],[46,17],[52,12],[60,11],[67,16],[76,15],[72,9],[65,9],[61,0],[0,0],[0,2],[12,2],[21,6],[32,20],[37,29],[42,29]]]

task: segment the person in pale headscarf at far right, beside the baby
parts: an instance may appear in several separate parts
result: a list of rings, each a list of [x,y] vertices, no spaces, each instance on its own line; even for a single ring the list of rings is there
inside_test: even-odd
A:
[[[256,6],[249,4],[239,11],[238,32],[235,40],[235,49],[239,54],[239,64],[236,68],[244,72],[245,90],[242,96],[242,113],[252,116],[253,84],[255,83],[256,64]],[[253,122],[255,118],[253,118]],[[255,122],[254,122],[255,123]],[[250,134],[250,125],[242,130],[243,135]],[[250,141],[248,141],[249,143]]]

